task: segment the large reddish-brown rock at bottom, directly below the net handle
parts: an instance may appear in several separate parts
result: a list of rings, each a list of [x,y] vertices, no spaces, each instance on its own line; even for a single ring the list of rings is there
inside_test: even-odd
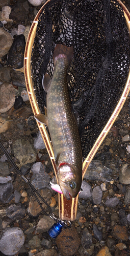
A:
[[[71,256],[77,251],[81,244],[79,234],[74,226],[68,229],[62,229],[62,232],[56,238],[57,247],[63,256]]]

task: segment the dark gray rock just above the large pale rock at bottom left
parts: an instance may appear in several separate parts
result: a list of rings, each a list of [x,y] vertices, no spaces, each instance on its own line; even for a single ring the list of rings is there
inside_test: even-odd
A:
[[[20,220],[25,216],[25,208],[22,204],[11,204],[6,208],[6,214],[10,219]]]

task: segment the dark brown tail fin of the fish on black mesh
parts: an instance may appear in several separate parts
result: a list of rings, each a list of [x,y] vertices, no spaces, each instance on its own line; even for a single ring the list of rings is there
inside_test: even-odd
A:
[[[68,65],[69,65],[73,57],[73,46],[67,47],[61,44],[56,45],[54,50],[54,57],[53,57],[54,65],[56,64],[56,61],[58,58],[64,58],[64,57],[67,57]]]

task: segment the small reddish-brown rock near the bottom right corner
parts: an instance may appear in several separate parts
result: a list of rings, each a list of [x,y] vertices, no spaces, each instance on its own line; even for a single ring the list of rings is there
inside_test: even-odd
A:
[[[119,225],[115,225],[114,232],[115,232],[116,238],[121,239],[123,241],[128,239],[127,228],[125,226],[121,227]]]

